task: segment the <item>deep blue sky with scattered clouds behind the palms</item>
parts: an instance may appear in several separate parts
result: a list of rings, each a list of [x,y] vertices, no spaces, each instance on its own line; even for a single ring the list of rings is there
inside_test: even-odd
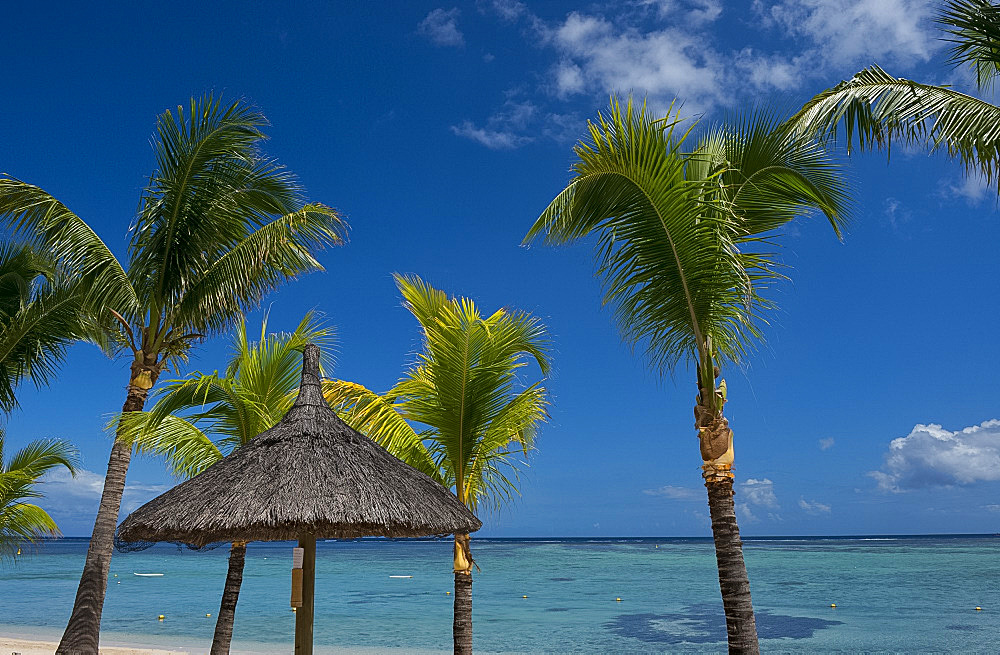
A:
[[[551,422],[523,497],[480,534],[708,535],[693,371],[660,379],[621,343],[589,243],[519,243],[612,91],[661,110],[677,98],[708,124],[754,103],[791,111],[872,62],[971,88],[944,64],[936,8],[15,3],[0,42],[0,171],[53,193],[123,254],[156,115],[207,91],[251,100],[272,122],[267,153],[351,225],[325,273],[267,300],[275,328],[313,308],[337,326],[338,377],[382,390],[411,360],[419,335],[393,272],[549,326]],[[773,295],[768,341],[726,372],[743,532],[1000,531],[996,197],[940,156],[844,163],[846,240],[822,220],[792,226],[781,253],[792,281]],[[226,349],[204,344],[189,370],[221,367]],[[126,381],[125,362],[78,345],[8,421],[11,447],[58,436],[82,451],[86,471],[45,485],[67,535],[92,527],[103,425]],[[136,460],[125,508],[170,484],[162,465]]]

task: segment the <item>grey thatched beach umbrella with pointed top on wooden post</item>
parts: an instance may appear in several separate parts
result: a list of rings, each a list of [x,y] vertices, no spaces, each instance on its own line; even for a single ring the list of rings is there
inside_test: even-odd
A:
[[[312,653],[316,539],[474,532],[482,523],[448,489],[349,427],[323,398],[319,348],[281,422],[203,473],[132,512],[117,540],[193,547],[298,539],[304,549],[295,653]]]

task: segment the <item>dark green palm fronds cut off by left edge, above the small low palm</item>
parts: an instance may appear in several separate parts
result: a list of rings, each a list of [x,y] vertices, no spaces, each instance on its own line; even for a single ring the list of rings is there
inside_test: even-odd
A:
[[[46,384],[66,348],[91,336],[82,288],[26,244],[0,242],[0,412],[25,379]]]

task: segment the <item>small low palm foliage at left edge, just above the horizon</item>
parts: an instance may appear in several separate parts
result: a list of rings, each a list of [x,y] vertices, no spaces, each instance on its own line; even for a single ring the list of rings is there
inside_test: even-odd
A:
[[[25,500],[40,498],[39,478],[59,466],[76,475],[77,451],[66,441],[36,439],[4,458],[6,434],[0,428],[0,560],[20,554],[21,546],[59,535],[44,509]]]

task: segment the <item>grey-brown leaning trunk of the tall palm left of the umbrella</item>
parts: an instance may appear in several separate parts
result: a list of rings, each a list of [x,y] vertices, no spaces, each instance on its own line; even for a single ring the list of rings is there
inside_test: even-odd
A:
[[[143,370],[145,375],[142,374]],[[122,405],[123,412],[142,411],[157,374],[158,371],[150,371],[138,363],[132,365],[132,377],[125,404]],[[56,655],[97,655],[104,594],[108,589],[108,571],[111,568],[111,552],[114,550],[115,527],[118,525],[118,511],[125,492],[125,475],[131,459],[132,448],[116,440],[111,446],[101,505],[94,521],[94,531],[90,535],[90,546],[87,548],[80,586],[76,590],[73,612]]]

